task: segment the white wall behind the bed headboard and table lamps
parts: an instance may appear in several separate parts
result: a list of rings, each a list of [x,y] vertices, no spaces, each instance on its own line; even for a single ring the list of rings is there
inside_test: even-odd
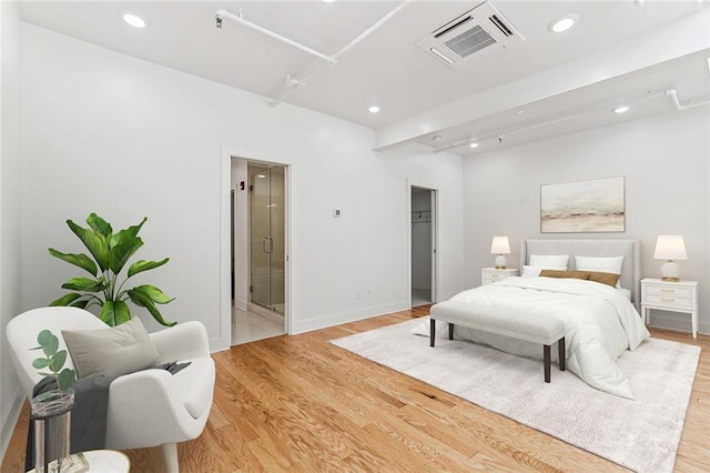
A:
[[[710,107],[669,112],[590,130],[464,162],[465,282],[477,285],[494,234],[510,238],[508,266],[518,266],[524,238],[632,238],[642,244],[642,274],[660,276],[659,234],[682,234],[681,278],[700,281],[700,331],[710,333]],[[626,177],[626,232],[541,234],[540,184]],[[653,311],[651,324],[690,330],[683,314]]]

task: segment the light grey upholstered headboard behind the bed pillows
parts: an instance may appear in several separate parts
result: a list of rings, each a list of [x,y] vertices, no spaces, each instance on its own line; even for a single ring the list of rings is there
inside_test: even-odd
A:
[[[639,306],[641,290],[640,240],[520,240],[520,271],[529,264],[530,254],[569,254],[569,269],[575,269],[575,255],[623,256],[621,288],[631,291],[631,302]]]

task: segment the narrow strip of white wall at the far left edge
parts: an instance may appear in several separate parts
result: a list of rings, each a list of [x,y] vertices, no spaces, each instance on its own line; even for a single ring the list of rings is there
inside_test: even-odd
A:
[[[20,312],[20,16],[0,2],[0,456],[21,406],[4,328]]]

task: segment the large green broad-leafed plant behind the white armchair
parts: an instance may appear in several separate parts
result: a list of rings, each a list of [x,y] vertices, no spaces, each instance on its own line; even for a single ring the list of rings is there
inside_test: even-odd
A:
[[[138,225],[129,227],[118,233],[113,233],[111,224],[95,213],[87,218],[88,229],[67,220],[71,231],[89,249],[93,259],[84,253],[62,253],[53,248],[49,249],[49,254],[85,270],[92,278],[70,279],[62,284],[62,288],[75,292],[62,295],[50,305],[71,305],[81,309],[100,305],[99,318],[109,325],[115,326],[131,320],[131,311],[126,304],[126,301],[131,300],[135,305],[145,308],[160,324],[174,325],[176,322],[166,322],[155,306],[155,304],[166,304],[174,298],[169,298],[163,291],[150,284],[123,289],[130,278],[162,266],[170,259],[135,261],[129,266],[126,276],[122,281],[119,279],[131,256],[143,245],[143,240],[138,236],[138,233],[146,220],[144,218]]]

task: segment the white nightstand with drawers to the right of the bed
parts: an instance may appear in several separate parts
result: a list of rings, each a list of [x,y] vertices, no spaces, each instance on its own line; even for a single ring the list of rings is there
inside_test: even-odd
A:
[[[692,338],[698,336],[698,281],[641,280],[641,311],[647,324],[651,309],[690,314]]]

